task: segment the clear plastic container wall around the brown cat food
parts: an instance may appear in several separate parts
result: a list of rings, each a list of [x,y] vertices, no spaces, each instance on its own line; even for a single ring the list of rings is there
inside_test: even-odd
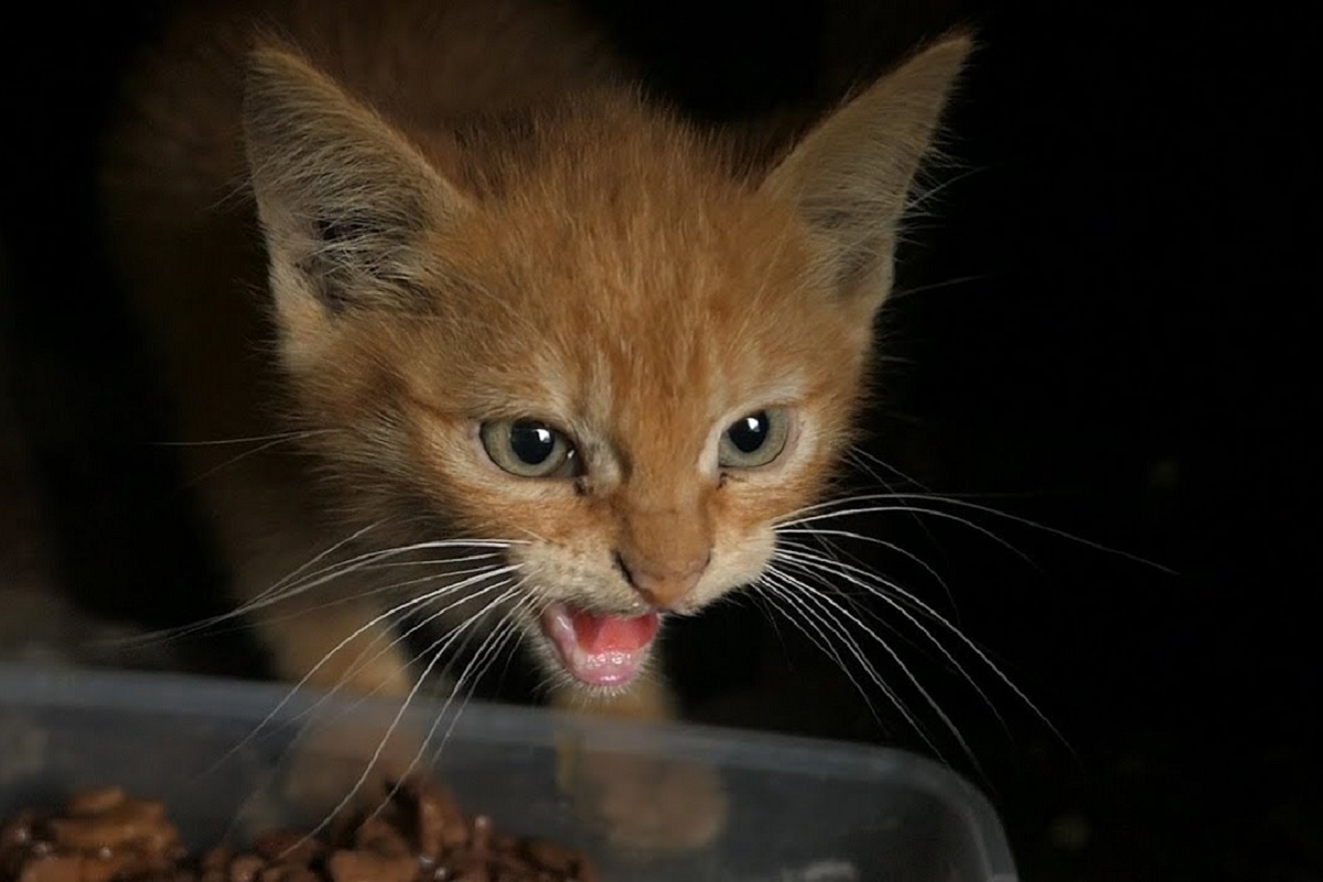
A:
[[[0,665],[0,813],[56,805],[73,788],[120,784],[164,800],[194,848],[234,836],[234,819],[251,809],[254,795],[274,791],[282,755],[308,719],[312,697],[295,696],[263,723],[287,694],[275,684]],[[321,725],[361,727],[380,726],[397,706],[332,707],[318,715]],[[409,719],[437,719],[439,709],[421,705]],[[606,881],[1017,878],[987,800],[909,754],[478,702],[441,719],[442,730],[454,727],[434,775],[463,811],[486,812],[512,833],[583,846]],[[576,822],[557,792],[554,744],[566,737],[591,750],[714,766],[730,795],[722,836],[684,858],[640,862],[614,853]],[[331,768],[344,758],[325,762]],[[319,820],[308,807],[258,803],[263,825]]]

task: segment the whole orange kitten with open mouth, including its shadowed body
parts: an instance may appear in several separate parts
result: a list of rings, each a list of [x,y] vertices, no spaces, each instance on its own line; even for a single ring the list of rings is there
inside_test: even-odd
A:
[[[106,230],[183,436],[270,439],[188,456],[277,672],[405,696],[389,627],[435,619],[517,640],[558,703],[671,715],[665,619],[757,582],[851,438],[968,48],[755,163],[557,3],[175,21]]]

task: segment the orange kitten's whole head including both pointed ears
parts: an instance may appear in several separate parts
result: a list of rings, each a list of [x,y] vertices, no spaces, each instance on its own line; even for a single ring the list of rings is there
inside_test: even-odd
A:
[[[851,165],[828,124],[738,181],[624,102],[474,175],[266,63],[254,185],[302,417],[337,430],[329,471],[414,540],[509,542],[507,606],[548,670],[630,682],[659,615],[755,582],[822,489],[917,155]],[[878,89],[844,114],[894,111]],[[845,122],[863,138],[877,112]],[[931,118],[893,135],[922,145]],[[308,155],[336,173],[280,167]]]

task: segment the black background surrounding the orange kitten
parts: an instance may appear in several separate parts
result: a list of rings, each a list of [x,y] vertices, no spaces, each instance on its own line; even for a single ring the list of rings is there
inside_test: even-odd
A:
[[[958,167],[934,172],[947,186],[901,255],[888,315],[909,364],[880,376],[888,405],[869,417],[869,450],[933,489],[1174,571],[992,516],[975,520],[1032,565],[950,524],[856,521],[941,571],[951,599],[922,574],[916,590],[958,616],[1061,737],[967,653],[1004,722],[919,647],[906,659],[979,766],[921,703],[935,744],[892,711],[885,726],[861,722],[839,672],[800,678],[832,713],[786,718],[802,705],[782,696],[767,725],[935,746],[988,791],[1027,879],[1323,879],[1307,432],[1319,284],[1304,276],[1316,41],[1303,15],[1270,3],[593,5],[663,89],[717,119],[830,99],[919,38],[975,25],[982,49],[949,116]],[[0,354],[60,577],[98,612],[179,623],[221,602],[221,571],[168,448],[151,443],[169,436],[168,409],[99,275],[90,201],[106,98],[156,4],[16,5],[5,19]],[[741,615],[689,629],[734,651],[736,623],[751,633]],[[786,639],[782,655],[815,670]],[[716,657],[679,665],[696,707],[757,680]],[[777,664],[762,665],[773,696]]]

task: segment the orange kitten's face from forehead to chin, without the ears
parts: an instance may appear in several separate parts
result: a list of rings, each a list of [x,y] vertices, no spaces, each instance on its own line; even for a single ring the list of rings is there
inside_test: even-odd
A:
[[[331,456],[389,464],[386,513],[404,481],[437,530],[516,542],[528,645],[590,685],[635,674],[652,614],[758,579],[839,452],[868,339],[785,205],[652,168],[599,163],[573,193],[544,169],[538,198],[433,234],[423,315],[347,311],[316,368],[314,411],[361,446]]]

